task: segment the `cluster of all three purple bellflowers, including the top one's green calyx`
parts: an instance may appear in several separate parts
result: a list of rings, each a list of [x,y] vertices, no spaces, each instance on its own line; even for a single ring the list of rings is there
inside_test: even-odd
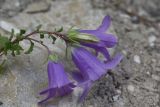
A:
[[[107,70],[116,67],[122,60],[122,55],[117,54],[111,57],[107,48],[113,48],[117,43],[117,38],[106,33],[111,23],[110,17],[106,16],[102,24],[96,30],[70,30],[67,33],[67,40],[72,45],[71,56],[78,71],[72,72],[72,79],[76,80],[76,85],[65,72],[63,65],[58,60],[48,62],[48,88],[40,92],[47,94],[47,98],[40,101],[45,103],[50,98],[70,94],[75,87],[81,87],[83,92],[79,98],[82,102],[89,93],[94,81],[100,79],[107,73]],[[86,48],[87,47],[87,48]],[[94,55],[88,48],[94,49]],[[101,53],[105,61],[100,60],[97,55]]]

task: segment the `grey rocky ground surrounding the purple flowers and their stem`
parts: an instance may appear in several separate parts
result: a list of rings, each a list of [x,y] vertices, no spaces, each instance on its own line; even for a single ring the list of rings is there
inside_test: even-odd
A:
[[[159,0],[0,0],[0,32],[29,32],[39,24],[46,30],[95,29],[110,15],[109,32],[119,39],[111,51],[124,54],[121,64],[95,83],[83,104],[76,104],[77,89],[44,107],[160,107],[159,5]],[[64,56],[60,40],[48,46]],[[47,85],[44,51],[37,45],[30,56],[8,56],[6,73],[0,77],[0,107],[37,107],[42,99],[38,92]]]

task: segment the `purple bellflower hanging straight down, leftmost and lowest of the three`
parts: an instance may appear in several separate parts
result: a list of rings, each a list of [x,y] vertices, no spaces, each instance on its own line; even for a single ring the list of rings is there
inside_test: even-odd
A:
[[[69,81],[63,66],[60,63],[48,62],[48,79],[49,86],[47,89],[40,92],[40,95],[47,94],[47,98],[40,101],[39,104],[45,103],[50,98],[55,96],[64,96],[73,91],[75,85]]]

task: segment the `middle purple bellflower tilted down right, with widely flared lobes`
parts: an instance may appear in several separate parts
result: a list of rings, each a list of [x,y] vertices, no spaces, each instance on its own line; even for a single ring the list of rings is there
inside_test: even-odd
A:
[[[72,60],[80,71],[74,72],[73,77],[84,89],[79,101],[82,101],[88,94],[92,82],[106,74],[108,69],[114,68],[117,64],[119,64],[121,59],[122,56],[118,55],[113,60],[103,63],[86,49],[75,48],[72,51]]]

